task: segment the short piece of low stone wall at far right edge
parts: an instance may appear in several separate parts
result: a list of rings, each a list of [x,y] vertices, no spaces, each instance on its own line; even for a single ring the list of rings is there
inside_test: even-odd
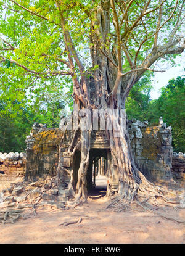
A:
[[[185,182],[185,154],[173,153],[172,173],[175,180]]]

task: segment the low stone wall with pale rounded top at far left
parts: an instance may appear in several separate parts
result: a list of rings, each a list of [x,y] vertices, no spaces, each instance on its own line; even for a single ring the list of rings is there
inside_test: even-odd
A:
[[[9,187],[11,183],[23,181],[25,164],[25,153],[0,153],[0,191]]]

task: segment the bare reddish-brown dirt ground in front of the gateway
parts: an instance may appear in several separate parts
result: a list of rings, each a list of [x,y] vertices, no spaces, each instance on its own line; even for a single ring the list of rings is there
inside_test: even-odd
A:
[[[1,244],[184,244],[185,225],[136,207],[131,212],[104,210],[106,181],[101,177],[88,204],[76,210],[36,209],[36,215],[0,224]],[[185,220],[185,209],[166,209],[168,217]],[[79,224],[60,226],[69,220]]]

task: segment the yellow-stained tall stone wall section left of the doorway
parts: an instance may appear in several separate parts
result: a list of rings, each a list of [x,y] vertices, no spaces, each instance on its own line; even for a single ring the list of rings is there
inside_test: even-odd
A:
[[[59,128],[48,129],[35,123],[27,136],[26,179],[35,181],[38,178],[55,176],[58,162],[58,149],[62,131]]]

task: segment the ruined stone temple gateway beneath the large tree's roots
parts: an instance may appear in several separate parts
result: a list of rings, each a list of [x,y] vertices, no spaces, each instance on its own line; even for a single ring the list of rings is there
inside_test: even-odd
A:
[[[167,128],[163,123],[148,126],[147,122],[132,119],[129,121],[129,130],[133,155],[139,170],[150,181],[163,182],[171,180],[173,154],[171,127]],[[70,157],[68,148],[72,141],[72,131],[67,131],[59,156],[59,145],[63,134],[64,131],[61,131],[59,128],[47,128],[44,125],[35,123],[30,135],[27,136],[25,181],[34,182],[55,176],[57,174],[59,157],[62,167],[67,170],[60,180],[59,191],[49,191],[43,194],[43,199],[45,200],[65,201],[70,199],[68,183],[72,168],[74,170],[74,183],[76,184],[78,180],[80,151],[76,151],[75,155]],[[95,183],[94,172],[98,159],[104,159],[104,173],[106,173],[108,179],[111,179],[112,189],[117,188],[119,177],[110,168],[110,146],[105,131],[102,130],[92,131],[87,171],[88,189]]]

